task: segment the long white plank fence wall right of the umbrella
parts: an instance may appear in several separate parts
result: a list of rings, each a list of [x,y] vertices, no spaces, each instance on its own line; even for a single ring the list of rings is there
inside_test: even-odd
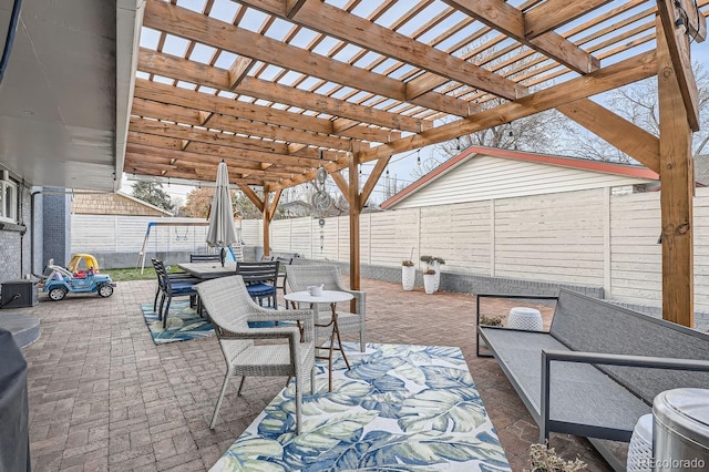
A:
[[[247,244],[263,245],[260,225],[243,222]],[[327,218],[322,252],[317,219],[276,220],[270,234],[274,252],[349,260],[347,216]],[[422,254],[440,256],[443,271],[602,286],[607,298],[660,306],[659,234],[658,192],[596,188],[364,214],[360,255],[393,267],[413,248],[419,267]],[[695,198],[695,304],[709,311],[709,188]]]

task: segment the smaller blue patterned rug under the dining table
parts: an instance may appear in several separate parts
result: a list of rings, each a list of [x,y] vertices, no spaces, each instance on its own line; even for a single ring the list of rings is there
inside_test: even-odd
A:
[[[173,300],[166,329],[163,329],[163,321],[157,319],[157,312],[153,311],[152,302],[142,304],[141,311],[156,345],[214,336],[212,325],[189,307],[189,300]]]

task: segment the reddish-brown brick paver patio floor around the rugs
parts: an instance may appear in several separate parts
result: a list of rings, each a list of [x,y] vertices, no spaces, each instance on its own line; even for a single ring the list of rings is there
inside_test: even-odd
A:
[[[527,466],[538,430],[496,362],[475,357],[475,298],[368,279],[362,289],[368,341],[462,348],[512,469]],[[284,387],[282,378],[261,378],[247,379],[240,398],[229,389],[210,431],[225,369],[216,338],[154,345],[140,310],[153,295],[153,281],[121,283],[107,299],[41,296],[13,310],[41,318],[42,336],[23,349],[34,471],[206,470]],[[508,307],[499,300],[485,309]],[[590,471],[608,470],[584,439],[552,434],[551,445]]]

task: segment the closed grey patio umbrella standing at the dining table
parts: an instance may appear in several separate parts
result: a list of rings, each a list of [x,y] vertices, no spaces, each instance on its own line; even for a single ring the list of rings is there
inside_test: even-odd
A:
[[[222,161],[217,167],[217,182],[212,209],[209,212],[209,227],[207,229],[206,242],[212,247],[220,247],[222,267],[226,257],[226,248],[236,243],[236,230],[234,229],[234,206],[229,193],[229,171],[226,163]]]

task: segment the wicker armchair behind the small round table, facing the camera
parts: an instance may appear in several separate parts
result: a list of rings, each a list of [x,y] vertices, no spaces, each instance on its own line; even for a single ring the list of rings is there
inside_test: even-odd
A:
[[[302,291],[311,285],[325,284],[326,290],[339,290],[352,294],[356,301],[354,312],[348,310],[337,310],[337,319],[340,334],[359,332],[359,347],[364,352],[364,299],[363,291],[350,290],[345,287],[340,278],[340,268],[330,265],[300,265],[294,264],[286,266],[288,277],[288,286],[291,291]],[[327,305],[327,304],[325,304]],[[329,307],[320,307],[320,319],[316,320],[318,325],[327,325],[331,318]],[[325,334],[326,331],[322,331]],[[318,338],[321,336],[317,334]]]

